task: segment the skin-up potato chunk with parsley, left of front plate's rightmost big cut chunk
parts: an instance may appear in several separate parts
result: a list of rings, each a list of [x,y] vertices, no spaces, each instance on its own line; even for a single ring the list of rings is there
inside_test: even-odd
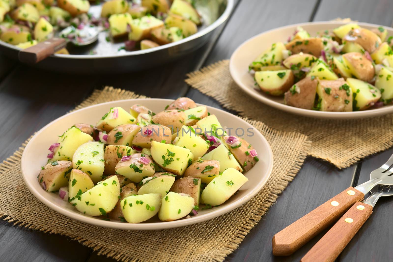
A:
[[[198,160],[185,170],[184,177],[201,178],[202,183],[210,183],[213,178],[220,174],[220,161]]]

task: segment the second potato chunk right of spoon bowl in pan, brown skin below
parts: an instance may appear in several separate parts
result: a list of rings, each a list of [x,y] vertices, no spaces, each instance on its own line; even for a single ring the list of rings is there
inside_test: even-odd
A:
[[[151,37],[154,28],[162,27],[164,22],[154,16],[143,16],[132,20],[129,40],[140,41]]]

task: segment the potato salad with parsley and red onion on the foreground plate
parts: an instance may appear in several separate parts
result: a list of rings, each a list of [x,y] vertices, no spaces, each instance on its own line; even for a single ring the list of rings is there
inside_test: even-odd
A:
[[[248,181],[257,150],[189,98],[162,109],[108,108],[95,125],[73,125],[49,147],[38,183],[83,214],[129,223],[226,202]]]

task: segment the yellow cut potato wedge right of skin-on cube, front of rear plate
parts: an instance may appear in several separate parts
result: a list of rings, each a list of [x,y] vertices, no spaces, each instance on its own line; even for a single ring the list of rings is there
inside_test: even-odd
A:
[[[353,92],[353,111],[365,110],[381,98],[381,92],[371,84],[359,79],[348,78]]]

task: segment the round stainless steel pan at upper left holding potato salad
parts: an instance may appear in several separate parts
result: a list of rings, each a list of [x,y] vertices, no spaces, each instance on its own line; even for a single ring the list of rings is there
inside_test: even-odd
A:
[[[106,32],[99,35],[99,41],[83,48],[69,48],[70,55],[55,54],[34,66],[53,71],[68,73],[100,73],[140,71],[158,64],[169,62],[190,53],[208,42],[215,30],[223,26],[233,9],[234,0],[196,0],[196,9],[204,24],[199,31],[178,42],[156,48],[118,52],[124,43],[110,44],[105,40]],[[90,9],[99,13],[101,7]],[[18,59],[20,49],[0,41],[0,52],[13,59]],[[97,54],[91,54],[97,53]]]

